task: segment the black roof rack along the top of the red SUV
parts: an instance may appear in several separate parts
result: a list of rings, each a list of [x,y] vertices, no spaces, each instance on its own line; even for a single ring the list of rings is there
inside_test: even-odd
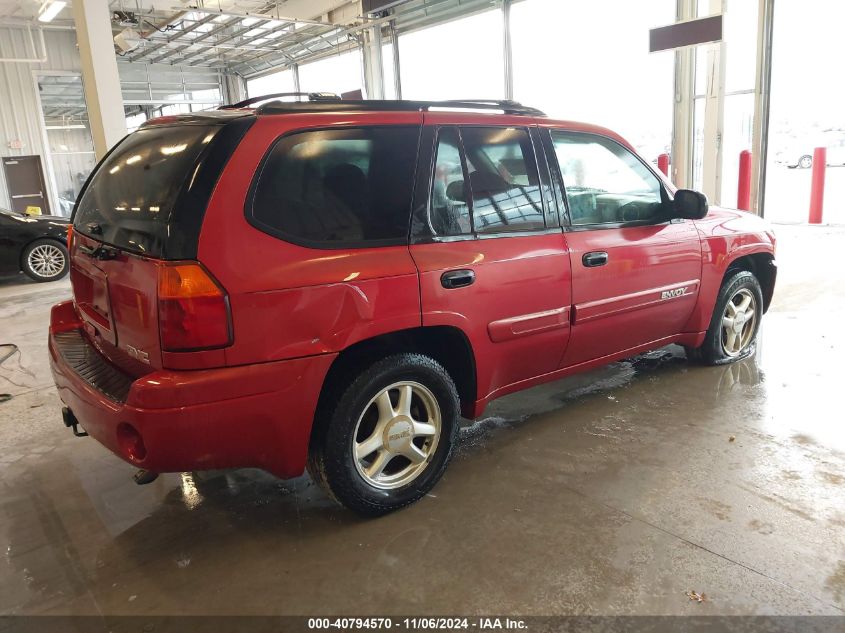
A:
[[[300,93],[282,93],[285,95]],[[270,101],[259,106],[256,112],[259,114],[286,114],[294,112],[332,112],[337,110],[345,111],[428,111],[433,109],[444,110],[495,110],[504,114],[516,114],[522,116],[546,116],[545,112],[537,108],[524,106],[521,103],[510,100],[494,99],[457,99],[446,101],[399,101],[399,100],[364,100],[364,101],[343,101],[337,95],[329,97],[330,93],[311,93],[326,95],[323,98],[309,99],[309,101]],[[234,106],[224,107],[245,107],[247,102],[255,103],[272,98],[272,95],[247,99]]]

